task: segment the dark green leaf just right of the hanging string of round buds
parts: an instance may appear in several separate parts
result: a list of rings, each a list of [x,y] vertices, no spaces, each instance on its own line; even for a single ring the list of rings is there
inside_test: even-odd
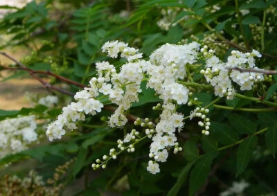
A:
[[[238,141],[238,133],[232,130],[226,123],[211,122],[213,134],[222,144],[231,144]]]

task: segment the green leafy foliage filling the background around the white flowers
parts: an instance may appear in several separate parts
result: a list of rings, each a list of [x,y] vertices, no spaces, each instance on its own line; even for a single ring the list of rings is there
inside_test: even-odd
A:
[[[192,41],[214,48],[222,60],[236,48],[244,51],[255,48],[274,56],[277,55],[276,3],[274,0],[238,1],[238,17],[235,1],[231,0],[30,1],[23,8],[0,7],[8,10],[1,18],[0,48],[20,46],[22,53],[27,53],[20,61],[28,68],[52,71],[84,85],[96,75],[95,63],[107,59],[101,51],[102,44],[114,39],[140,48],[145,56],[161,44]],[[111,63],[120,69],[124,60]],[[276,61],[271,57],[257,63],[260,68],[276,69]],[[203,83],[196,73],[200,69],[202,66],[196,68],[193,78]],[[1,85],[27,75],[26,71],[10,71],[2,77]],[[73,93],[78,91],[78,87],[62,84],[61,80],[48,78],[48,81]],[[264,95],[274,84],[273,80],[265,87],[257,87],[258,95]],[[276,102],[275,91],[269,100]],[[113,130],[106,123],[111,112],[104,111],[87,118],[78,130],[61,141],[48,143],[44,123],[55,119],[62,106],[70,101],[69,96],[60,93],[57,96],[60,103],[53,108],[37,105],[14,111],[0,110],[1,120],[35,114],[40,119],[38,130],[42,133],[39,144],[0,159],[1,194],[220,195],[234,181],[246,181],[248,186],[242,195],[276,195],[277,167],[272,157],[277,143],[274,112],[257,114],[213,108],[211,136],[201,134],[197,121],[187,121],[184,132],[179,133],[184,152],[171,154],[157,175],[145,170],[150,141],[139,143],[136,152],[122,154],[111,161],[107,169],[93,171],[91,163],[114,148],[116,140],[123,138],[134,125]],[[215,99],[211,91],[199,90],[195,96],[204,103]],[[143,89],[140,102],[129,113],[157,121],[159,114],[152,110],[157,102],[159,99],[154,98],[153,91]],[[262,107],[240,98],[221,103],[235,108]],[[178,112],[188,116],[190,110],[182,106]],[[251,132],[247,127],[251,127]],[[258,130],[265,127],[270,132],[258,136]],[[235,145],[239,143],[244,145]],[[229,145],[231,148],[222,148]],[[6,168],[7,164],[10,166]],[[27,177],[29,184],[23,187],[14,175],[21,179]],[[36,177],[42,177],[44,184],[36,183],[39,181]],[[229,195],[238,194],[230,192]]]

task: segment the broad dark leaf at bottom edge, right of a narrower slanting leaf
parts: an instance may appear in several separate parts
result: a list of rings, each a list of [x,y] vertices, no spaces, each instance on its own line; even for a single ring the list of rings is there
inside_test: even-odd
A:
[[[189,195],[194,195],[202,187],[211,170],[211,163],[218,154],[216,151],[208,152],[197,160],[190,172]]]

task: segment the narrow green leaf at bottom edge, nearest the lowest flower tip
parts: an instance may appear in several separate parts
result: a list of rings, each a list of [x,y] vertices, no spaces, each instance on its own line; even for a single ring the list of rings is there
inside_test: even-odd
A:
[[[187,163],[186,167],[184,167],[183,170],[181,170],[176,183],[172,186],[172,188],[170,188],[168,196],[175,196],[178,194],[181,186],[184,186],[186,179],[188,177],[188,172],[190,172],[190,168],[193,166],[194,163],[195,161]]]

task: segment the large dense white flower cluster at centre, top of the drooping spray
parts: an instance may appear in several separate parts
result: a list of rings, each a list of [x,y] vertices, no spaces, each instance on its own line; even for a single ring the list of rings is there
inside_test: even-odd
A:
[[[159,98],[165,103],[176,100],[186,104],[188,89],[178,83],[178,79],[186,76],[186,64],[193,64],[197,60],[199,51],[197,42],[186,45],[165,44],[150,55],[150,63],[146,67],[149,75],[148,86],[160,94]]]

